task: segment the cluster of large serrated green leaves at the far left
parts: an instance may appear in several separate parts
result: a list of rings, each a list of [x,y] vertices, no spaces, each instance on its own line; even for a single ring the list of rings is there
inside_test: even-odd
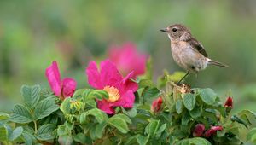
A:
[[[55,98],[39,85],[22,86],[21,95],[25,106],[15,105],[11,115],[0,113],[1,141],[35,144],[55,139],[53,131],[59,120],[53,114],[59,109]]]

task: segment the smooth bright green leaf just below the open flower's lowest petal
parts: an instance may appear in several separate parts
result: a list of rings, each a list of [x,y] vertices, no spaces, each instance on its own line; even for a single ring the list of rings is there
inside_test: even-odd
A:
[[[108,125],[112,125],[122,133],[127,133],[129,131],[125,119],[121,117],[111,117],[110,119],[108,119]]]

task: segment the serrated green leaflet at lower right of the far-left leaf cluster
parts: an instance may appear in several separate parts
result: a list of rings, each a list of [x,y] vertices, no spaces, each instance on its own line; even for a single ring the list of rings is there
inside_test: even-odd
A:
[[[55,125],[46,124],[42,125],[38,129],[37,139],[40,141],[47,141],[50,139],[54,139],[55,137],[52,135],[52,132],[55,130]]]

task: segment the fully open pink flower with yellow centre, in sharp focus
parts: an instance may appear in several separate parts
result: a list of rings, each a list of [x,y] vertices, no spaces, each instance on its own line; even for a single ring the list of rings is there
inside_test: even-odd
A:
[[[108,92],[108,100],[97,101],[98,108],[102,111],[113,114],[114,107],[133,107],[137,83],[131,81],[133,73],[129,73],[125,78],[119,73],[113,62],[106,60],[100,64],[98,70],[95,61],[90,61],[86,68],[88,83],[99,90]]]

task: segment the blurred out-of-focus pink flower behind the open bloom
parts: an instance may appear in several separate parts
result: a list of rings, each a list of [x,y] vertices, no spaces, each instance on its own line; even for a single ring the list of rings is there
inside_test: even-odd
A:
[[[108,50],[109,58],[116,64],[123,75],[133,71],[132,78],[145,73],[147,55],[137,51],[135,44],[126,43],[122,46],[112,46]]]

